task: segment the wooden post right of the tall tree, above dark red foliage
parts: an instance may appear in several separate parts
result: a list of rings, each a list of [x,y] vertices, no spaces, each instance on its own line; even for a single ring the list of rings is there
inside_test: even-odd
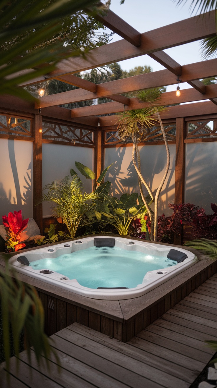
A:
[[[176,168],[175,168],[175,203],[183,203],[185,197],[185,121],[176,119]],[[182,236],[174,236],[174,244],[181,244]]]

